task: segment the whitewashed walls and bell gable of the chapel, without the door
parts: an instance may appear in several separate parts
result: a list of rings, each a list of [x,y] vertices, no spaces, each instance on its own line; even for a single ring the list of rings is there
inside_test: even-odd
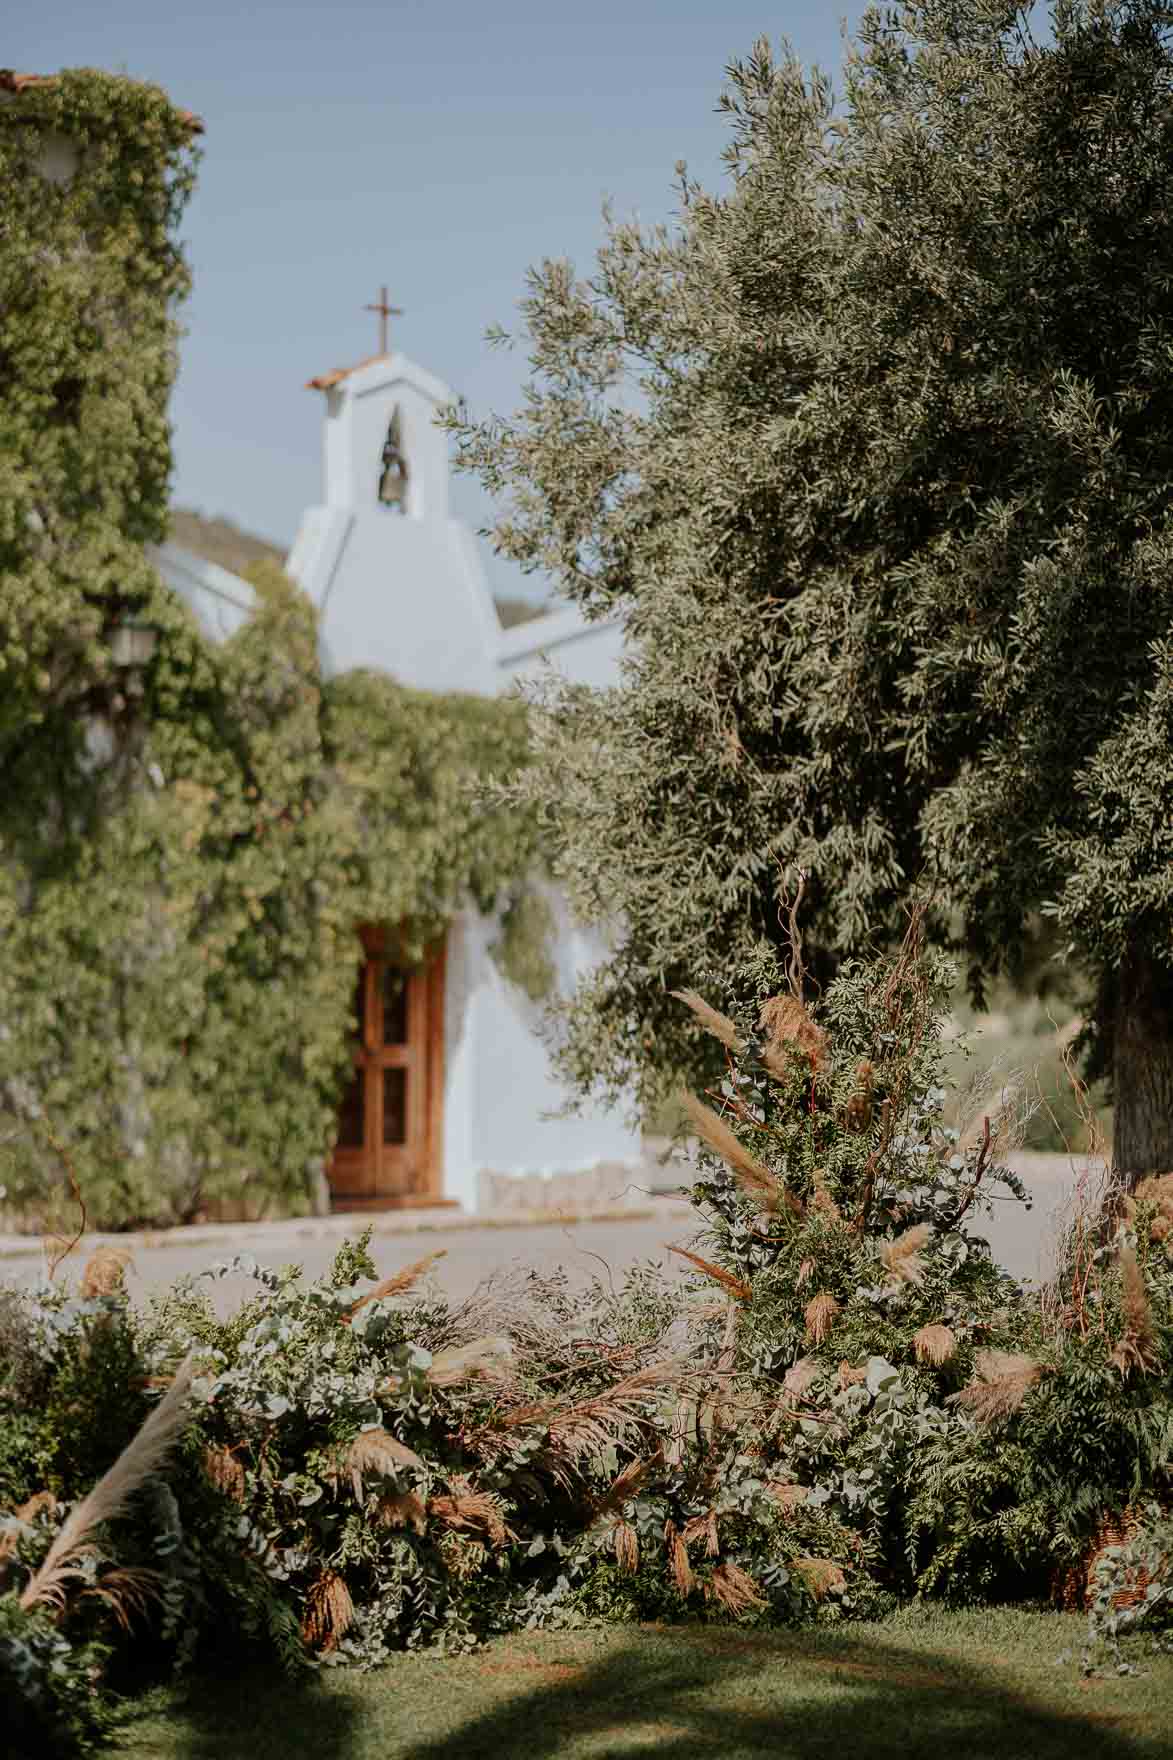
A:
[[[500,628],[474,535],[447,509],[447,442],[435,426],[453,400],[447,387],[398,354],[310,384],[326,401],[324,491],[303,514],[287,568],[319,607],[326,676],[368,667],[419,690],[495,695],[550,662],[579,683],[618,681],[616,620],[586,623],[564,607]],[[400,505],[380,503],[389,435]],[[240,627],[252,597],[243,581],[171,544],[155,558],[211,637]],[[560,898],[551,903],[558,982],[569,989],[602,947]],[[442,1197],[467,1209],[479,1207],[491,1174],[641,1163],[639,1137],[615,1114],[542,1116],[565,1095],[535,1033],[539,1010],[490,959],[497,931],[470,908],[447,942]]]

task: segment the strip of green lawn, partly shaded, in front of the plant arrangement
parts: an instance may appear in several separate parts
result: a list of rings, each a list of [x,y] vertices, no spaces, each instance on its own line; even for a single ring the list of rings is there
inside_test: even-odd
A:
[[[192,1681],[136,1712],[141,1760],[1168,1760],[1173,1656],[1080,1679],[1078,1616],[909,1612],[754,1633],[625,1626],[523,1633],[372,1674]]]

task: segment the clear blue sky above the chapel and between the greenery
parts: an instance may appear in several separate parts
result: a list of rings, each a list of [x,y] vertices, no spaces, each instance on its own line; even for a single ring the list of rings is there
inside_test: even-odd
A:
[[[183,238],[196,289],[173,400],[178,505],[280,544],[319,498],[321,400],[305,380],[393,336],[474,412],[520,403],[513,327],[544,255],[590,269],[601,202],[673,213],[673,165],[722,180],[724,67],[757,35],[837,70],[861,4],[798,0],[67,0],[12,9],[0,60],[106,67],[162,84],[206,123]],[[470,479],[454,503],[490,509]],[[511,565],[497,591],[539,593]]]

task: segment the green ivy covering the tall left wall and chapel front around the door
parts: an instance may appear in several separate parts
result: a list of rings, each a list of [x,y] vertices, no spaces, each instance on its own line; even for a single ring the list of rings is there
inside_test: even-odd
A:
[[[79,146],[62,185],[55,137]],[[69,1200],[55,1142],[92,1225],[308,1207],[356,924],[419,957],[539,859],[528,813],[476,797],[525,762],[523,704],[324,686],[314,609],[271,563],[211,646],[148,565],[192,176],[153,88],[70,72],[0,107],[0,1206],[30,1221]],[[130,706],[125,614],[157,632]]]

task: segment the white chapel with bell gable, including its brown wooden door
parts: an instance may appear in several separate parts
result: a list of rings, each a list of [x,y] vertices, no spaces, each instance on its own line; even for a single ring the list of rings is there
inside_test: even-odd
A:
[[[322,500],[301,516],[287,570],[319,607],[326,676],[382,669],[419,690],[495,695],[546,662],[586,685],[618,679],[618,621],[564,607],[502,630],[474,533],[447,505],[447,440],[435,424],[453,392],[402,354],[322,373]],[[164,579],[211,639],[248,616],[252,590],[174,544]],[[558,982],[602,956],[551,896]],[[356,926],[359,933],[359,926]],[[361,1038],[328,1170],[345,1209],[498,1206],[535,1184],[571,1193],[583,1176],[618,1195],[643,1163],[618,1114],[550,1118],[565,1100],[537,1037],[539,1010],[490,957],[498,924],[470,905],[421,972],[400,972],[380,933],[361,928]],[[567,1179],[565,1176],[578,1176]],[[595,1193],[599,1186],[595,1184]],[[507,1202],[507,1199],[505,1199]]]

